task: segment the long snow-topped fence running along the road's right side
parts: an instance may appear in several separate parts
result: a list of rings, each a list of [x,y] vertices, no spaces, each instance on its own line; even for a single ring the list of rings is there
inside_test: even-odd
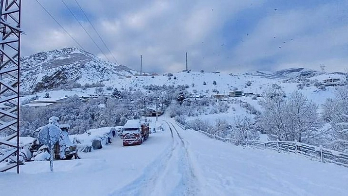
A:
[[[175,121],[176,122],[176,121]],[[176,122],[178,124],[178,122]],[[180,123],[179,123],[180,124]],[[178,125],[179,125],[178,124]],[[181,126],[184,126],[180,124]],[[180,126],[179,125],[179,126]],[[228,143],[239,144],[246,147],[253,147],[258,149],[271,149],[278,152],[287,152],[293,154],[303,155],[311,160],[319,161],[321,163],[334,163],[340,166],[348,167],[348,153],[339,152],[323,148],[322,146],[309,145],[297,141],[260,141],[260,140],[232,140],[222,138],[214,134],[203,131],[198,131],[209,138],[221,140]]]

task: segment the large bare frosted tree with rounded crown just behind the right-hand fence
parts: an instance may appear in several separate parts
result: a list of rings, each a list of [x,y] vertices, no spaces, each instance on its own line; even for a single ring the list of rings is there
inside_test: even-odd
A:
[[[264,111],[259,118],[263,131],[278,140],[310,142],[322,132],[318,106],[295,90],[286,97],[282,88],[267,88],[261,99]]]

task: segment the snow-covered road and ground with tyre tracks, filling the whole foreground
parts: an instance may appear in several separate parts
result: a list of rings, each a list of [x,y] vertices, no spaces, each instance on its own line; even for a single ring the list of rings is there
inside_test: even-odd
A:
[[[142,145],[120,140],[81,160],[30,162],[0,173],[1,196],[347,196],[348,168],[270,150],[242,148],[184,131],[164,131]]]

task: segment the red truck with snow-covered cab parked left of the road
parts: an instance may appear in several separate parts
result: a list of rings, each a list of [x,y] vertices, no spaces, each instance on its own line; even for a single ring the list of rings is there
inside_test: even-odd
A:
[[[122,128],[123,146],[142,144],[147,140],[149,132],[148,123],[141,123],[139,119],[127,120]]]

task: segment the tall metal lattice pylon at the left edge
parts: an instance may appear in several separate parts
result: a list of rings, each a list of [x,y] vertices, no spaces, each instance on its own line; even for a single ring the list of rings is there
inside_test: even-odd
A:
[[[19,173],[21,0],[0,0],[0,16],[0,136],[7,135],[0,139],[0,172],[17,167]]]

